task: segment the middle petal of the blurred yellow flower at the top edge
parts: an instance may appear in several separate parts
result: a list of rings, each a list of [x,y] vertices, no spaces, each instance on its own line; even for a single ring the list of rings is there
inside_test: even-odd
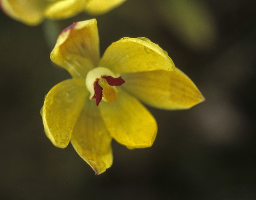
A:
[[[45,16],[50,19],[72,17],[83,10],[84,4],[84,0],[56,1],[45,10]]]

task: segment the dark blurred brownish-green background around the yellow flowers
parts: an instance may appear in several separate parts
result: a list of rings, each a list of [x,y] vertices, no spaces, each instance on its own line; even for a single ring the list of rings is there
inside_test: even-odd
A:
[[[0,12],[0,198],[256,199],[255,2],[127,0],[36,27]],[[95,17],[101,54],[121,37],[148,37],[207,99],[182,111],[149,107],[153,146],[113,141],[113,165],[99,176],[71,144],[52,145],[40,116],[45,94],[70,77],[49,59],[57,35]]]

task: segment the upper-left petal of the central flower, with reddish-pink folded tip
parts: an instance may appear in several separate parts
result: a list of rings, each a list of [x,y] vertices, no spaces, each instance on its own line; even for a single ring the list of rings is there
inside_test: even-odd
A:
[[[99,34],[96,19],[73,23],[64,29],[50,55],[72,77],[86,77],[99,62]]]

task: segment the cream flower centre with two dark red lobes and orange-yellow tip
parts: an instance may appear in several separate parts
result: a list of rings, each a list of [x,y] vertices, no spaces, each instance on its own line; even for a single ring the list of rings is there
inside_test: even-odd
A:
[[[86,76],[86,87],[90,92],[89,98],[95,99],[97,106],[101,100],[113,102],[118,96],[115,86],[121,86],[124,82],[119,74],[114,74],[105,67],[96,67]]]

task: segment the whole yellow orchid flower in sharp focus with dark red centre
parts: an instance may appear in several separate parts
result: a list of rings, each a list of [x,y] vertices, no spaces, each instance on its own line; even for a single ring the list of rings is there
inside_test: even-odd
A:
[[[50,55],[72,76],[45,97],[41,115],[52,143],[71,141],[96,174],[112,165],[112,138],[129,149],[150,147],[157,123],[140,103],[188,109],[204,101],[166,51],[144,37],[124,37],[100,59],[96,19],[64,29]]]

